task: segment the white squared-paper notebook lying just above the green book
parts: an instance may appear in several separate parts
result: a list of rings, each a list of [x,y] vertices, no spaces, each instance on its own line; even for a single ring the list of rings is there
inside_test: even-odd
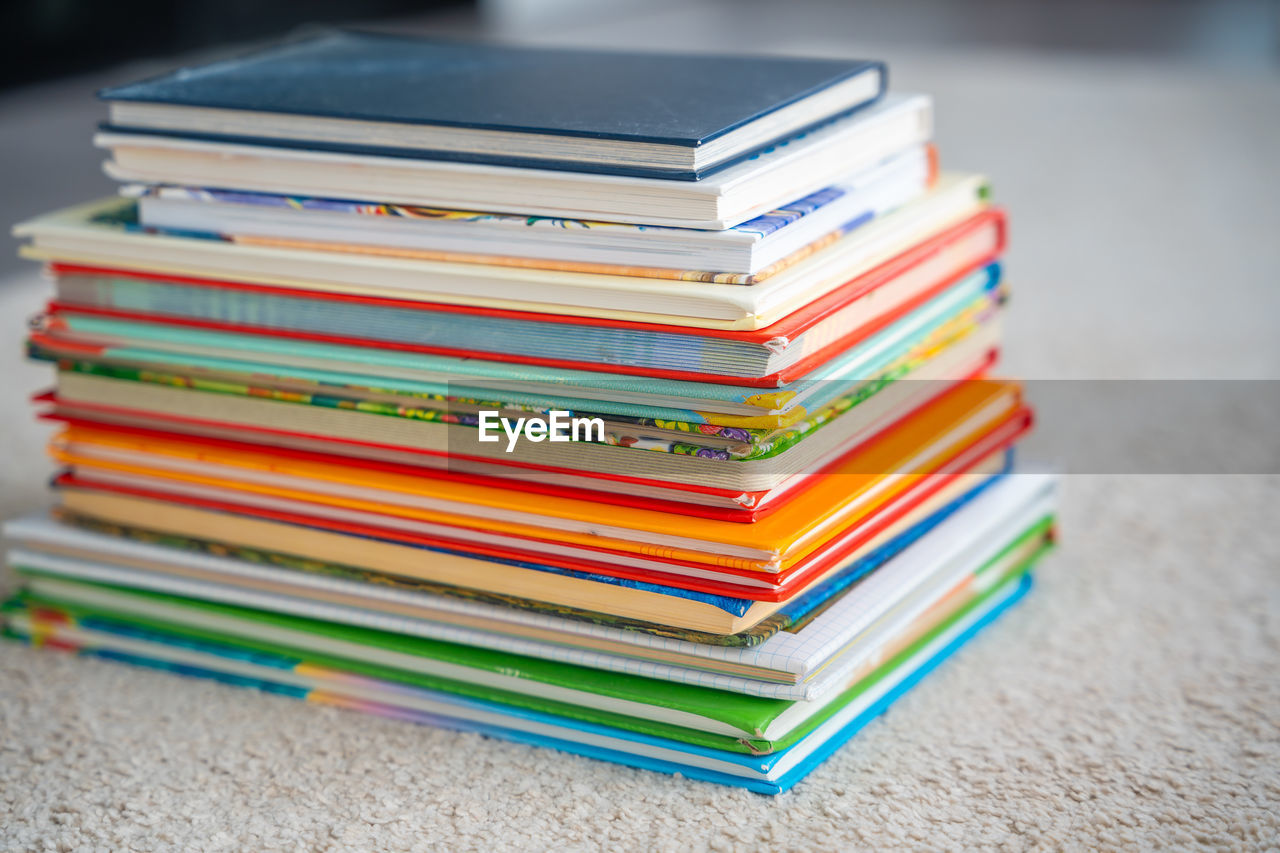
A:
[[[564,620],[475,601],[412,594],[342,578],[282,574],[230,557],[120,539],[46,519],[6,523],[12,565],[61,578],[224,602],[448,643],[527,654],[549,661],[698,684],[748,695],[817,699],[863,661],[841,652],[870,625],[914,593],[927,608],[929,590],[950,589],[984,565],[1020,532],[1052,516],[1053,480],[1046,475],[1004,478],[923,532],[863,583],[794,630],[750,647],[708,646],[604,625]],[[54,551],[74,547],[83,556]],[[131,569],[136,560],[210,573],[219,581]],[[269,593],[241,580],[288,578],[288,593]]]

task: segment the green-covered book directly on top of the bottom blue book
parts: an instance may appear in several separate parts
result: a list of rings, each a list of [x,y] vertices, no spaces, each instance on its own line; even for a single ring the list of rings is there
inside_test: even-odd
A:
[[[819,699],[794,701],[572,666],[230,605],[68,580],[18,566],[24,590],[6,605],[10,630],[47,615],[97,640],[143,637],[257,656],[282,671],[330,670],[426,688],[690,744],[748,753],[783,749],[855,701],[913,653],[1007,592],[1051,547],[1051,519],[1019,534],[972,575],[966,590],[933,605],[890,660]],[[18,628],[15,628],[18,626]],[[29,628],[27,629],[29,630]],[[37,630],[38,635],[38,630]],[[883,644],[881,644],[883,648]],[[893,648],[888,638],[888,648]]]

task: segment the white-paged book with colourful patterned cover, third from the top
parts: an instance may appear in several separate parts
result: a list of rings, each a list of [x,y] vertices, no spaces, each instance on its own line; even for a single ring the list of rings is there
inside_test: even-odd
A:
[[[438,260],[512,257],[544,261],[552,269],[568,263],[750,275],[920,196],[928,188],[929,160],[925,146],[913,146],[726,231],[200,187],[131,184],[122,195],[138,199],[138,222],[147,228],[220,234],[241,242],[403,250]]]

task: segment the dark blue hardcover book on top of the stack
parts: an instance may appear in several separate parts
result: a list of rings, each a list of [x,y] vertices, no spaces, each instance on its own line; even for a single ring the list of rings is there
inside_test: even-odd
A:
[[[338,32],[100,96],[108,129],[696,179],[878,100],[883,63]]]

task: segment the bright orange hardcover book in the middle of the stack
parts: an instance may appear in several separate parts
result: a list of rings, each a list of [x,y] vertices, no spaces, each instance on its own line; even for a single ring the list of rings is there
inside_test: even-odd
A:
[[[52,455],[79,474],[206,484],[436,524],[607,547],[663,558],[782,571],[858,525],[1020,409],[1016,384],[968,382],[846,459],[753,524],[605,506],[205,444],[69,426]]]

